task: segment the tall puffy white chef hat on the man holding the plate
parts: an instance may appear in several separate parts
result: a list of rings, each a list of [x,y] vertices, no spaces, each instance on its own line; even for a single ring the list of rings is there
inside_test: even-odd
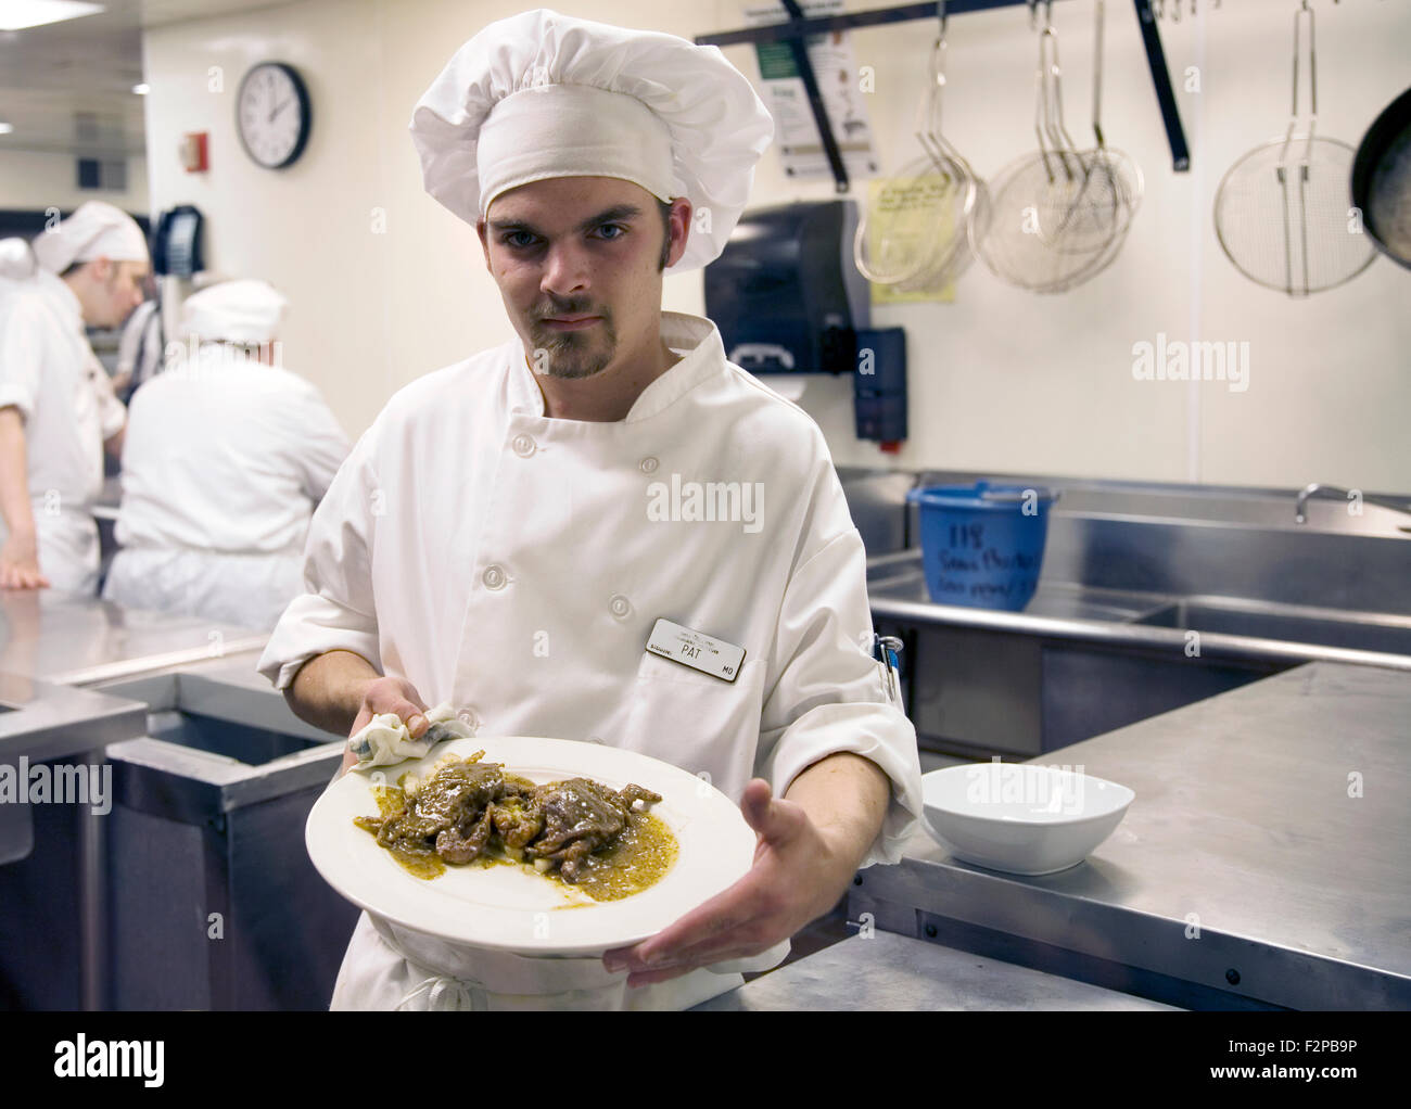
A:
[[[411,130],[426,192],[467,223],[545,178],[622,178],[687,198],[708,223],[693,219],[676,274],[725,248],[775,123],[717,47],[539,8],[456,51]]]

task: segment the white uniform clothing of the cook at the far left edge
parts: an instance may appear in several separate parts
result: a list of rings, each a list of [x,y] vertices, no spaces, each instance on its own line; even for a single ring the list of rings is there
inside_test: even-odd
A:
[[[47,269],[0,278],[0,408],[7,405],[24,418],[40,571],[56,591],[93,595],[90,509],[103,491],[103,442],[126,415],[89,346],[83,306]]]

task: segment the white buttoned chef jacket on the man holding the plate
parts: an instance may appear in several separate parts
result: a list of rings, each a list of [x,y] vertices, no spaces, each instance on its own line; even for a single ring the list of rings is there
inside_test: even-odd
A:
[[[315,514],[308,593],[258,669],[285,689],[312,656],[356,652],[481,734],[639,751],[737,803],[753,776],[782,796],[855,752],[892,780],[864,865],[896,861],[921,811],[916,732],[871,655],[862,538],[823,433],[727,363],[710,320],[663,312],[662,339],[684,358],[612,423],[546,418],[518,341],[401,389]],[[684,492],[655,519],[673,480],[758,483],[759,526],[689,519]],[[742,646],[738,679],[648,655],[660,617]],[[384,1005],[367,968],[404,968],[373,931],[339,1006]]]

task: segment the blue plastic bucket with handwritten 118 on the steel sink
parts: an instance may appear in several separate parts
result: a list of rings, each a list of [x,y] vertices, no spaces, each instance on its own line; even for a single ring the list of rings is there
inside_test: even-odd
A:
[[[921,563],[935,604],[1019,612],[1038,587],[1054,490],[1034,485],[926,485]]]

